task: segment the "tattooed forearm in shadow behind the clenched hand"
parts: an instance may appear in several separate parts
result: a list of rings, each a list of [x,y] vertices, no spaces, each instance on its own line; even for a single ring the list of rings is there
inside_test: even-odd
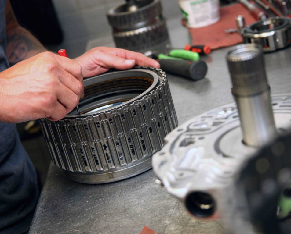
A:
[[[10,66],[28,59],[47,49],[26,29],[20,26],[11,28],[7,33],[6,56]]]

